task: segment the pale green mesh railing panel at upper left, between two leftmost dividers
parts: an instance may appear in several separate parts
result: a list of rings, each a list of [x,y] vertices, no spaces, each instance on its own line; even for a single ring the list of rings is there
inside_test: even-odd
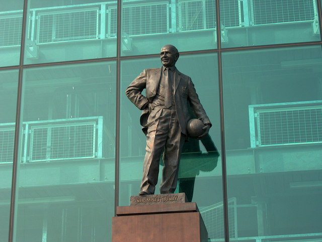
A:
[[[41,13],[38,43],[98,38],[98,9]]]

